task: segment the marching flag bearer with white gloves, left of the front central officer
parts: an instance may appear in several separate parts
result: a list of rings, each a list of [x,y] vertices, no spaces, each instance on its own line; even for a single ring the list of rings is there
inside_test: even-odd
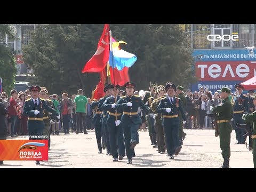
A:
[[[123,160],[125,156],[124,147],[124,133],[122,127],[119,125],[121,123],[122,110],[115,110],[116,102],[119,100],[119,89],[120,85],[111,84],[109,86],[111,96],[106,98],[102,104],[102,108],[108,110],[108,117],[106,125],[109,132],[110,148],[113,156],[113,161],[117,162],[117,156],[119,154],[119,160]],[[118,149],[118,152],[117,152]]]

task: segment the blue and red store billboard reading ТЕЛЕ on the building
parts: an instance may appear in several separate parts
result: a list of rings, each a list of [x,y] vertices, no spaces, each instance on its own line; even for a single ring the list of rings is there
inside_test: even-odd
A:
[[[256,75],[256,54],[250,55],[247,49],[239,50],[195,50],[195,75],[198,82],[191,90],[204,85],[210,91],[228,86],[235,91],[234,85]]]

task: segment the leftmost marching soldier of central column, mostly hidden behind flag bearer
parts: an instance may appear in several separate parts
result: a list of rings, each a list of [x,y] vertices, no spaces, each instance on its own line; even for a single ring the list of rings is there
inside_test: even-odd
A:
[[[101,145],[101,123],[100,123],[100,116],[102,114],[102,111],[99,110],[99,100],[92,100],[92,109],[94,111],[94,115],[92,117],[92,124],[94,125],[95,129],[95,135],[97,140],[97,145],[99,149],[99,154],[102,153],[102,145]],[[103,139],[102,139],[103,140]],[[105,146],[106,147],[106,146]],[[105,149],[105,148],[104,148]]]

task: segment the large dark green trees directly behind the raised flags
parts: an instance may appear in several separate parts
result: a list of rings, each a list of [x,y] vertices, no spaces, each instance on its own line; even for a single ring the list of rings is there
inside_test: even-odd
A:
[[[103,26],[39,25],[23,48],[25,63],[37,77],[35,83],[50,93],[68,92],[71,96],[83,89],[91,97],[100,75],[82,74],[81,70],[97,50]],[[117,41],[127,42],[122,47],[125,51],[137,55],[129,70],[137,90],[146,89],[150,81],[162,85],[170,81],[184,87],[195,81],[191,52],[178,25],[111,24],[110,30]]]

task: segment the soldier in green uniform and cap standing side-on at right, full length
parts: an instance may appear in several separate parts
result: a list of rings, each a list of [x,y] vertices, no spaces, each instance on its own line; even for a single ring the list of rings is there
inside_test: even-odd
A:
[[[220,97],[222,102],[218,106],[211,106],[210,109],[212,110],[212,113],[217,114],[218,132],[220,135],[220,149],[222,150],[221,155],[224,159],[221,168],[229,168],[230,134],[232,132],[230,120],[233,117],[233,108],[228,95],[231,90],[228,89],[228,87],[222,87],[222,89],[218,90],[218,92],[221,92]]]

